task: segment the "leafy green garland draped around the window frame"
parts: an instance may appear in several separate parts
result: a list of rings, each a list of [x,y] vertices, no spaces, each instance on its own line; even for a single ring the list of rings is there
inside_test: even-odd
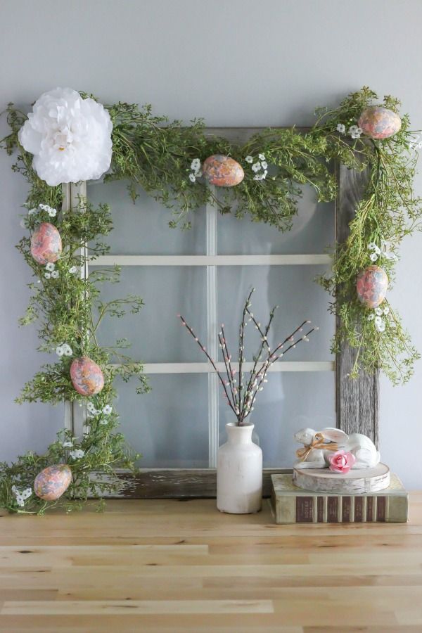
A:
[[[357,298],[356,278],[359,271],[371,264],[371,255],[376,252],[391,285],[398,245],[404,236],[418,227],[422,201],[414,196],[412,190],[417,154],[407,115],[402,117],[399,132],[389,139],[374,140],[359,133],[352,134],[352,138],[347,135],[353,126],[356,128],[362,111],[376,100],[376,94],[364,87],[350,94],[335,110],[316,110],[316,124],[305,134],[294,127],[266,129],[243,145],[218,136],[208,136],[202,120],[194,120],[191,125],[184,126],[179,121],[169,122],[166,117],[153,115],[151,106],[140,109],[134,104],[121,102],[105,106],[113,122],[113,156],[104,179],[127,180],[134,201],[139,187],[151,193],[172,210],[169,222],[172,228],[190,228],[191,213],[198,212],[212,199],[222,214],[233,213],[237,218],[248,215],[252,222],[266,222],[280,231],[288,231],[298,210],[303,185],[314,188],[319,201],[335,198],[334,160],[350,169],[369,169],[369,184],[350,223],[350,237],[345,244],[336,245],[333,249],[332,276],[319,281],[331,293],[331,311],[340,317],[333,351],[345,342],[357,348],[352,377],[357,376],[359,371],[381,369],[397,384],[409,379],[419,354],[411,345],[399,316],[386,300],[383,303],[385,325],[383,331],[378,331],[373,310]],[[397,99],[386,96],[384,105],[397,112],[400,104]],[[25,226],[31,233],[40,218],[52,221],[49,208],[60,208],[62,193],[60,187],[49,187],[39,179],[32,169],[32,155],[20,146],[18,131],[26,115],[13,104],[9,104],[7,111],[11,134],[2,142],[9,154],[18,149],[13,170],[23,174],[30,184],[25,206],[37,208],[37,213],[25,219]],[[212,188],[200,179],[198,171],[198,165],[214,154],[234,158],[245,171],[241,184],[222,188],[219,191],[221,196],[215,196]],[[265,165],[269,165],[267,177],[257,177],[251,164],[262,160],[262,156]],[[41,267],[30,255],[29,238],[23,238],[18,245],[34,276],[40,281],[30,284],[32,298],[21,323],[40,321],[41,351],[51,352],[66,341],[75,354],[89,355],[105,370],[106,386],[91,399],[91,419],[82,440],[72,438],[70,432],[63,430],[44,456],[30,453],[20,457],[12,466],[1,466],[0,504],[11,511],[44,512],[47,507],[68,504],[76,497],[84,501],[92,485],[92,471],[110,474],[116,466],[133,468],[134,462],[124,445],[124,438],[114,432],[117,414],[110,404],[114,395],[113,378],[116,373],[124,379],[137,375],[141,380],[139,390],[148,390],[140,364],[121,355],[122,364],[117,367],[109,364],[110,358],[116,353],[121,354],[117,347],[126,347],[127,342],[120,341],[117,347],[106,349],[98,345],[95,337],[98,326],[98,319],[94,318],[96,307],[99,307],[100,319],[105,314],[123,316],[126,309],[138,312],[142,300],[132,297],[115,300],[108,305],[101,303],[98,283],[110,279],[110,276],[116,280],[117,269],[113,272],[94,271],[88,279],[80,279],[70,273],[73,266],[80,267],[85,263],[86,255],[79,254],[83,243],[90,244],[90,257],[107,252],[108,247],[100,240],[112,229],[107,205],[93,209],[87,200],[81,199],[76,212],[59,212],[54,224],[60,230],[65,250],[58,262],[59,278],[53,283],[46,283],[42,278]],[[84,297],[83,301],[81,297]],[[18,402],[82,400],[72,388],[69,365],[68,357],[45,365],[25,385]],[[104,411],[109,408],[113,412],[105,414]],[[76,450],[83,455],[75,459],[70,457],[70,445],[73,454]],[[32,495],[25,501],[25,510],[22,510],[12,487],[32,487],[34,476],[41,468],[58,462],[69,462],[72,467],[73,478],[68,492],[53,503]],[[98,496],[114,487],[115,483],[110,481],[99,483]]]

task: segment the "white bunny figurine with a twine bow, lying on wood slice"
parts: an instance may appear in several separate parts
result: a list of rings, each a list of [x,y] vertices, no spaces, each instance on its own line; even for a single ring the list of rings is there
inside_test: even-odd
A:
[[[339,428],[323,428],[321,431],[302,428],[295,434],[295,440],[305,445],[297,452],[299,460],[295,468],[326,468],[333,449],[352,453],[356,458],[352,468],[373,468],[381,459],[376,446],[362,433],[347,435]]]

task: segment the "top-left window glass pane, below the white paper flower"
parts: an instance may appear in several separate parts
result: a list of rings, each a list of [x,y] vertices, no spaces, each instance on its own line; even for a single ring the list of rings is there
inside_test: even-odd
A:
[[[132,202],[127,182],[115,181],[87,184],[91,203],[108,203],[113,217],[113,231],[107,238],[113,255],[205,255],[205,209],[191,213],[189,231],[170,229],[172,210],[156,202],[141,188]]]

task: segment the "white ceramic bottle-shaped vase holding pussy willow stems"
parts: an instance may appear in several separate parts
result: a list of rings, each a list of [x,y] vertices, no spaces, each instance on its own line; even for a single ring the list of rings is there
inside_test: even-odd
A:
[[[231,514],[259,512],[262,450],[252,442],[252,423],[226,424],[227,442],[218,449],[217,508]]]

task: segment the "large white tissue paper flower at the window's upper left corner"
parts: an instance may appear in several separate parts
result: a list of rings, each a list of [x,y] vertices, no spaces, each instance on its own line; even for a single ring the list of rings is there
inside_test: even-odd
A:
[[[49,186],[96,180],[111,162],[113,124],[101,103],[70,88],[42,94],[19,130],[32,166]]]

